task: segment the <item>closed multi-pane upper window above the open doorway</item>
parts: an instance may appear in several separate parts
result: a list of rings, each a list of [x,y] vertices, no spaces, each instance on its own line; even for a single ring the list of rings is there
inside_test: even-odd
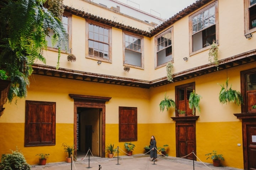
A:
[[[110,60],[110,28],[88,24],[89,57]]]

